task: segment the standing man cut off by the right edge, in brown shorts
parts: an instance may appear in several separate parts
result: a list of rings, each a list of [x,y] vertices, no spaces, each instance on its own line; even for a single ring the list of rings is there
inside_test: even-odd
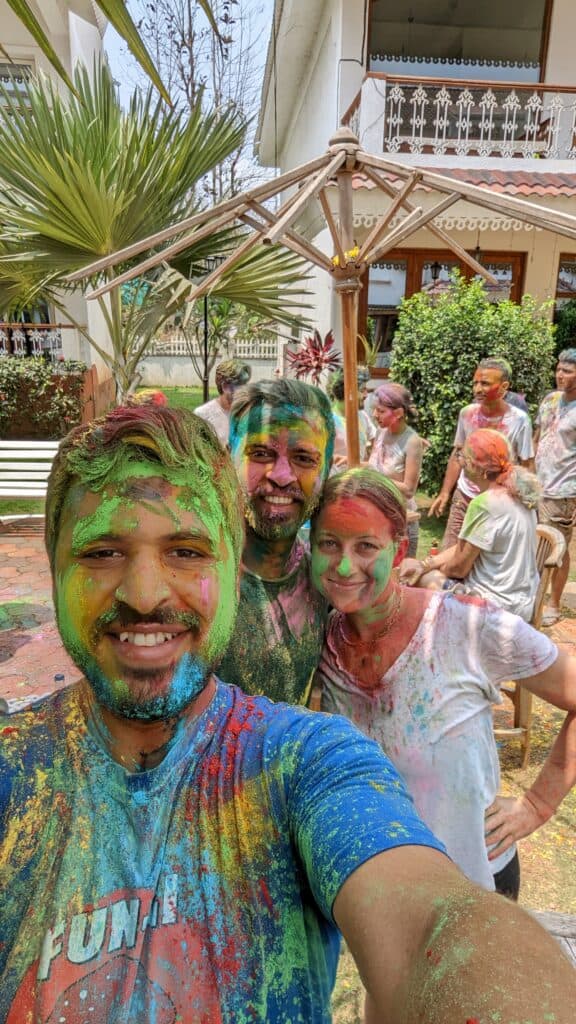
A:
[[[558,390],[546,395],[536,418],[536,472],[542,484],[538,518],[560,529],[566,553],[562,565],[552,572],[542,626],[552,626],[560,618],[570,573],[570,543],[576,522],[576,348],[560,353],[556,379]]]

